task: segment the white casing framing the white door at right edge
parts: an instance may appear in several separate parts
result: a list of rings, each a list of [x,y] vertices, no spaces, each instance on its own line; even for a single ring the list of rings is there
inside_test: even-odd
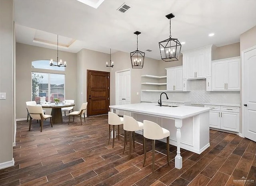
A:
[[[253,47],[250,47],[248,49],[245,49],[241,52],[241,79],[242,79],[242,86],[241,86],[241,93],[242,93],[242,101],[241,101],[241,106],[243,106],[244,104],[244,100],[245,100],[245,97],[244,97],[244,53],[250,51],[250,50],[253,50],[253,49],[256,49],[256,45],[254,45]],[[242,137],[244,137],[244,106],[242,108]]]

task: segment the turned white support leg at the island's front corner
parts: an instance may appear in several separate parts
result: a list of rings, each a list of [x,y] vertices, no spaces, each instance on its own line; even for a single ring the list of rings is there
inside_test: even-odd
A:
[[[182,168],[182,157],[180,156],[180,139],[181,139],[180,128],[182,127],[182,119],[175,119],[175,127],[177,128],[177,131],[176,131],[177,155],[175,157],[175,168],[181,169]]]

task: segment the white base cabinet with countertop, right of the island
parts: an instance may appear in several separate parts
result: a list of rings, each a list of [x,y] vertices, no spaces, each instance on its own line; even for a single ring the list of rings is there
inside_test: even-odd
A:
[[[210,110],[210,127],[239,132],[239,107],[205,105]]]

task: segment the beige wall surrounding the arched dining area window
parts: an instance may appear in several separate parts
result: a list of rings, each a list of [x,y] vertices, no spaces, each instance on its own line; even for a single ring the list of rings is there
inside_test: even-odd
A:
[[[16,119],[26,118],[26,101],[31,101],[31,73],[51,72],[65,74],[65,98],[76,104],[76,54],[59,51],[60,59],[67,61],[65,71],[32,69],[31,62],[39,59],[55,59],[57,51],[16,43]],[[56,59],[55,59],[56,60]],[[74,108],[76,110],[76,107]],[[80,108],[80,107],[79,107]],[[46,110],[50,114],[50,109]]]

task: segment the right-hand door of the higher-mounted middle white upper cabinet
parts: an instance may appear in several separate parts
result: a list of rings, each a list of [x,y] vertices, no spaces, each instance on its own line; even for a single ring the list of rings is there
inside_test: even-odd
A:
[[[199,51],[195,63],[196,78],[205,78],[205,51]]]

